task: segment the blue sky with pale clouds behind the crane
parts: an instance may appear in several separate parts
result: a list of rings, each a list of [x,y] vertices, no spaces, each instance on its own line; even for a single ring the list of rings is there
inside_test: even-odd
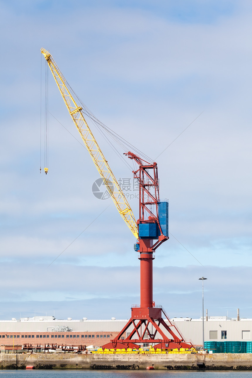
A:
[[[127,319],[140,302],[136,240],[94,196],[99,174],[50,72],[43,172],[42,47],[94,115],[158,163],[170,238],[153,263],[156,304],[199,318],[204,276],[209,316],[252,318],[251,3],[8,0],[0,14],[0,319]],[[90,128],[138,218],[126,151]]]

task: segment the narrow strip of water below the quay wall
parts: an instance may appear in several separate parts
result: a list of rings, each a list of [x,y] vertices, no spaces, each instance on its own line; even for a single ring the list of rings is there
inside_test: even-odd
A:
[[[248,372],[167,372],[167,370],[0,370],[0,378],[252,378]]]

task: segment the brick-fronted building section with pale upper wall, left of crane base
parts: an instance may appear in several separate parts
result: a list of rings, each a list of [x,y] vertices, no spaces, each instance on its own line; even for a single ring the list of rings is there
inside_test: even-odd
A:
[[[35,316],[0,321],[0,345],[61,344],[102,346],[110,342],[127,320],[55,319]],[[124,336],[125,337],[125,336]]]

